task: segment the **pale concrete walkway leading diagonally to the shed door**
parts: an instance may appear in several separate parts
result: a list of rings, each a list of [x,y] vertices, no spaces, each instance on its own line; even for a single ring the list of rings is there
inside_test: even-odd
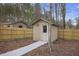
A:
[[[38,42],[32,43],[30,45],[27,45],[25,47],[21,47],[19,49],[13,50],[13,51],[9,51],[9,52],[0,54],[0,56],[21,56],[21,55],[24,55],[25,53],[28,53],[28,52],[32,51],[33,49],[36,49],[46,43],[47,42],[45,42],[45,41],[38,41]]]

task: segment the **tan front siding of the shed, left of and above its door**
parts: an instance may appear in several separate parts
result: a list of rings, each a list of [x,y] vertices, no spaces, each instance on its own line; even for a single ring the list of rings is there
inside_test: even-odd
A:
[[[33,40],[42,40],[41,39],[42,32],[43,32],[43,29],[41,28],[42,25],[48,25],[48,23],[44,21],[40,21],[35,25],[33,25]]]

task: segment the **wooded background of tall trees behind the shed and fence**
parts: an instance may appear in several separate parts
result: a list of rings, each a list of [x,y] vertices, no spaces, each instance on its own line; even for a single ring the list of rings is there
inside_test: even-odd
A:
[[[13,23],[24,21],[30,26],[37,18],[44,18],[59,25],[59,28],[79,28],[79,17],[75,18],[76,25],[73,20],[66,19],[65,3],[0,3],[0,22]],[[49,8],[49,10],[47,8]]]

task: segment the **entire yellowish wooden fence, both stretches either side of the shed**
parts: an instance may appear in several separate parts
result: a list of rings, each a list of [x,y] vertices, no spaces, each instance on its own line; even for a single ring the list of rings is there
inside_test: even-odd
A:
[[[32,29],[26,28],[0,28],[0,41],[32,38]],[[67,40],[79,40],[79,30],[65,29],[58,30],[58,38]]]

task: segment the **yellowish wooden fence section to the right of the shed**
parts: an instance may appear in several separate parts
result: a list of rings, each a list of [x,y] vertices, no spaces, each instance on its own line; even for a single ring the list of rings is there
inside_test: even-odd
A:
[[[67,40],[79,40],[79,30],[78,29],[59,30],[58,37]]]

